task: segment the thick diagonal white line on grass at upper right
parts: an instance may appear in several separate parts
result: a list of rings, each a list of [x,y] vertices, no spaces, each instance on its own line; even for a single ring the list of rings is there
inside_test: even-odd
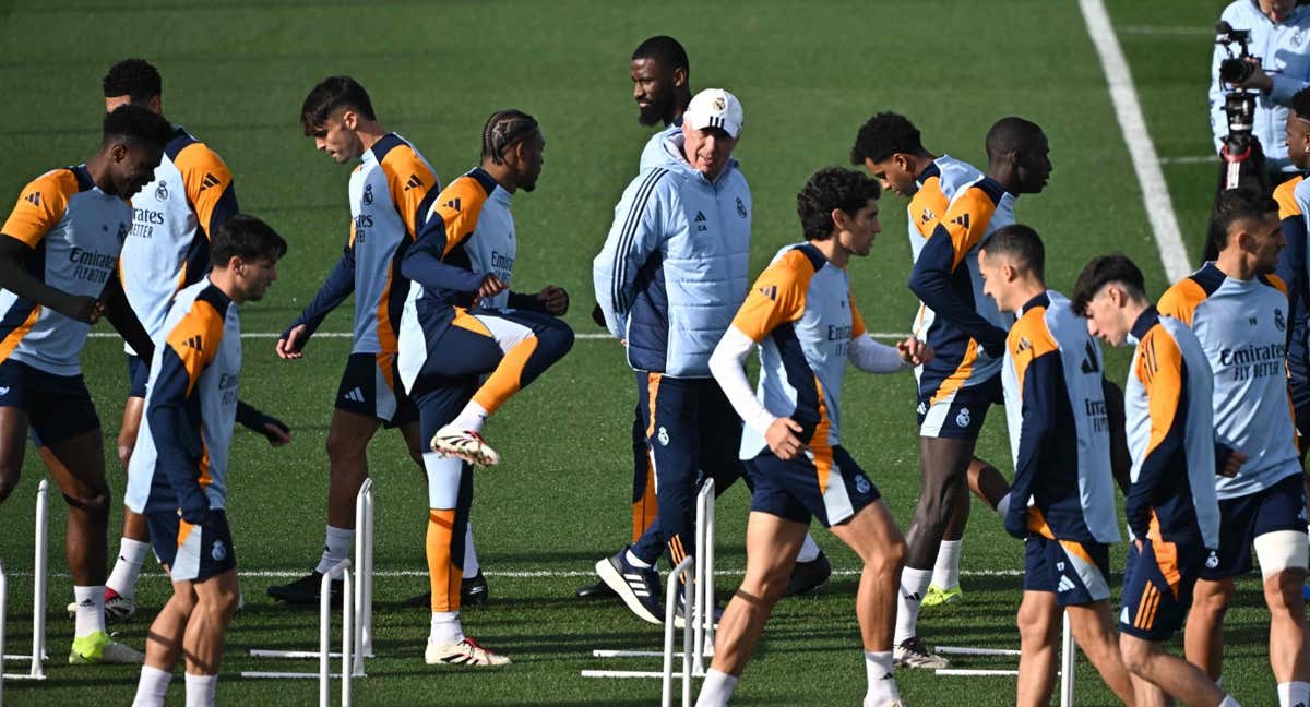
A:
[[[1137,100],[1132,72],[1128,71],[1128,60],[1124,59],[1124,52],[1119,47],[1119,38],[1115,37],[1115,29],[1110,24],[1106,4],[1102,0],[1078,0],[1078,7],[1087,24],[1087,34],[1091,37],[1093,45],[1096,46],[1096,55],[1100,56],[1100,67],[1106,72],[1110,98],[1115,103],[1115,117],[1119,119],[1119,130],[1123,131],[1124,141],[1128,144],[1128,156],[1133,160],[1137,183],[1141,185],[1146,217],[1150,220],[1151,233],[1155,236],[1155,247],[1159,249],[1165,275],[1171,283],[1180,280],[1192,268],[1187,261],[1187,249],[1183,247],[1178,219],[1174,216],[1174,202],[1169,198],[1169,186],[1159,169],[1159,157],[1155,154],[1150,132],[1146,131],[1146,119],[1142,117],[1142,106]]]

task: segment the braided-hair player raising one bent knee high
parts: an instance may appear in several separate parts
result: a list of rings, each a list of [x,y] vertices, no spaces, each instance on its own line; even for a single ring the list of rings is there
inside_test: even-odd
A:
[[[464,635],[460,621],[465,526],[473,463],[499,454],[482,439],[496,410],[572,347],[558,317],[569,293],[546,285],[511,291],[519,236],[510,203],[533,191],[545,136],[520,110],[500,110],[482,130],[482,164],[432,202],[401,272],[413,281],[400,327],[398,376],[419,411],[427,471],[427,567],[432,588],[430,665],[504,665],[510,659]],[[485,378],[483,378],[485,376]]]

